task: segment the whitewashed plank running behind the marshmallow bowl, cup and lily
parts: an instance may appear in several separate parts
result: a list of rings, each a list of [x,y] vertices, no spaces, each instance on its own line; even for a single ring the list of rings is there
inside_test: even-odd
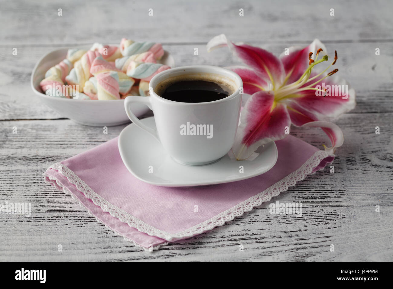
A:
[[[240,39],[239,39],[240,40]],[[304,45],[307,45],[305,42]],[[279,55],[286,44],[263,44],[263,48]],[[381,55],[375,55],[375,47],[380,46]],[[80,47],[80,46],[79,46]],[[206,52],[200,45],[167,45],[164,46],[173,54],[176,66],[211,64],[228,66],[240,62],[227,48]],[[194,48],[199,55],[194,55]],[[393,42],[383,43],[335,43],[327,45],[328,51],[338,51],[339,60],[336,66],[341,77],[347,79],[357,92],[358,112],[392,112],[393,83],[391,81],[393,67]],[[18,55],[12,55],[12,46],[0,47],[0,120],[18,119],[56,119],[62,118],[33,94],[30,87],[31,71],[38,59],[55,47],[22,47]],[[355,53],[356,52],[356,53]]]

